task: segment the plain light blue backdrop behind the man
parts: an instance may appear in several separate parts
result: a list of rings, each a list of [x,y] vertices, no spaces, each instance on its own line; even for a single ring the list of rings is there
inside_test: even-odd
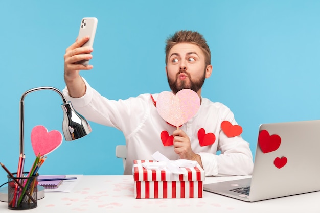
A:
[[[213,75],[202,96],[234,112],[256,150],[261,123],[319,119],[320,1],[2,1],[0,162],[16,171],[19,100],[38,86],[64,88],[63,55],[82,17],[99,20],[94,69],[82,75],[109,99],[169,90],[166,38],[199,31],[212,51]],[[25,98],[25,170],[34,161],[31,129],[62,131],[61,98],[38,91]],[[41,174],[122,174],[115,147],[122,133],[90,122],[93,132],[48,155]],[[301,141],[301,154],[308,154]],[[0,170],[0,184],[6,182]]]

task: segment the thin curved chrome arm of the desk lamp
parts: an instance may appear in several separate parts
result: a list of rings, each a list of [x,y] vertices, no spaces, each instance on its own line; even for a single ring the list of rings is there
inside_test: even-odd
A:
[[[36,87],[33,89],[29,89],[28,91],[25,91],[20,99],[20,154],[24,154],[24,99],[27,96],[27,94],[38,91],[38,90],[53,90],[56,91],[58,94],[60,94],[63,103],[66,104],[66,98],[64,94],[57,88],[51,87],[51,86],[43,86],[43,87]]]

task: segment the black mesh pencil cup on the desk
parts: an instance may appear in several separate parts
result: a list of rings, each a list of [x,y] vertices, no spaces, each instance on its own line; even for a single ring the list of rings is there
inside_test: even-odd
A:
[[[8,208],[11,210],[27,210],[37,207],[38,175],[28,177],[24,172],[22,177],[8,175]]]

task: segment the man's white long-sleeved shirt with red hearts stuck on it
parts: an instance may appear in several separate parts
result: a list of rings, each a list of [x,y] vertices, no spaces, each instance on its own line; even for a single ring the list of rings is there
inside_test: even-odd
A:
[[[84,79],[85,81],[85,79]],[[85,81],[86,93],[81,98],[72,98],[67,88],[63,90],[68,101],[87,120],[121,130],[126,139],[127,160],[124,174],[132,174],[133,160],[152,160],[151,155],[159,151],[170,160],[179,159],[173,146],[164,146],[161,133],[172,135],[176,127],[171,126],[158,114],[150,94],[126,100],[108,100]],[[156,101],[158,94],[152,94]],[[249,144],[241,135],[227,137],[221,123],[229,121],[237,125],[234,114],[221,103],[202,98],[197,114],[179,127],[191,141],[194,153],[201,156],[206,176],[250,175],[253,171],[253,157]],[[211,145],[200,146],[198,131],[213,133]],[[216,155],[220,150],[221,154]]]

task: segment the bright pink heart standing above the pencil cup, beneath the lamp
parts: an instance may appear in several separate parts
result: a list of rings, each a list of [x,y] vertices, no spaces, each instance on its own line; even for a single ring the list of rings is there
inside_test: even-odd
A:
[[[34,154],[47,155],[62,144],[62,134],[58,130],[48,132],[47,128],[38,125],[31,131],[31,144]]]

